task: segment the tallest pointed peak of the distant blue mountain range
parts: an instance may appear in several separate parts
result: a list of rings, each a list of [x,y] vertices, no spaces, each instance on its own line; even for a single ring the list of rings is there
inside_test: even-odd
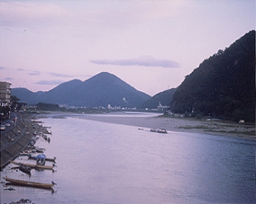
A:
[[[84,81],[72,97],[79,97],[80,99],[75,105],[87,102],[85,105],[90,107],[106,107],[108,104],[112,107],[139,107],[151,96],[136,90],[108,72],[102,72]]]

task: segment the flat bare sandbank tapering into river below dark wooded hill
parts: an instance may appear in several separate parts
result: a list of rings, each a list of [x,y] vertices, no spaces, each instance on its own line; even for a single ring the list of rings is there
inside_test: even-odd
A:
[[[139,126],[145,128],[165,128],[174,132],[196,132],[210,135],[226,135],[256,141],[255,124],[232,123],[224,120],[206,120],[185,117],[96,117],[87,116],[90,120],[106,123]]]

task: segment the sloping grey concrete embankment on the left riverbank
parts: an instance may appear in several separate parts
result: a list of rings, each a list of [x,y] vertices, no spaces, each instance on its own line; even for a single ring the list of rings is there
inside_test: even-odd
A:
[[[1,169],[11,160],[14,160],[30,140],[39,125],[32,121],[25,114],[17,114],[18,120],[12,129],[1,132]]]

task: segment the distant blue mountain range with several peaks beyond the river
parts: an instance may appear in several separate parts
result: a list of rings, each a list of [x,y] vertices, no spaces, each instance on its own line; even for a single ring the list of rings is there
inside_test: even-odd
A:
[[[20,88],[19,88],[20,89]],[[131,87],[115,75],[101,72],[87,81],[72,80],[47,92],[32,93],[29,90],[14,88],[11,95],[17,96],[21,102],[35,105],[38,102],[56,103],[77,107],[140,107],[149,99],[146,93]]]

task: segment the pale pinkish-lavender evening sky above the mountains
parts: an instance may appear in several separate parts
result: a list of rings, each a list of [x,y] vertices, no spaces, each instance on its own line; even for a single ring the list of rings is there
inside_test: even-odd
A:
[[[154,96],[252,29],[254,0],[0,0],[0,81],[36,92],[109,72]]]

